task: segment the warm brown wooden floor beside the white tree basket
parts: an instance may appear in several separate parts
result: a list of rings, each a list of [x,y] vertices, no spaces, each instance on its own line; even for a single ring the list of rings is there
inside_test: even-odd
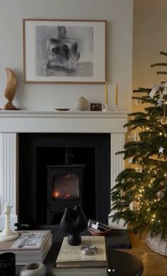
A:
[[[122,249],[128,253],[137,256],[144,264],[144,272],[142,276],[167,276],[167,256],[151,251],[145,244],[145,236],[139,239],[139,236],[134,233],[129,234],[132,242],[132,249]]]

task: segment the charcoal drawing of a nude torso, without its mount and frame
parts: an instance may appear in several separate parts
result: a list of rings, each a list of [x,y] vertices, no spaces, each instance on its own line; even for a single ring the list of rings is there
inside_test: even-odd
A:
[[[93,27],[37,25],[36,76],[93,76]]]

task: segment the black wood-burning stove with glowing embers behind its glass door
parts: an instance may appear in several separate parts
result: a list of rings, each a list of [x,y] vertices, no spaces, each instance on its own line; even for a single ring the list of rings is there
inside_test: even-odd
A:
[[[47,224],[67,206],[82,205],[85,164],[47,166]]]

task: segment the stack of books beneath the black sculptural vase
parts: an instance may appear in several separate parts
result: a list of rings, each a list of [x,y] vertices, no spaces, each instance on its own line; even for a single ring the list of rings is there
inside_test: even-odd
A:
[[[79,246],[70,246],[68,237],[64,237],[57,260],[52,267],[55,276],[106,276],[108,260],[104,236],[82,236]],[[83,248],[94,248],[95,253],[84,253]]]

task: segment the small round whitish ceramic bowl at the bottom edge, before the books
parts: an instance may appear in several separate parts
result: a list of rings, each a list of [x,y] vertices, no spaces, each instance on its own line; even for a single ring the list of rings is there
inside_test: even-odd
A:
[[[28,263],[21,269],[20,276],[44,276],[46,267],[43,263]]]

